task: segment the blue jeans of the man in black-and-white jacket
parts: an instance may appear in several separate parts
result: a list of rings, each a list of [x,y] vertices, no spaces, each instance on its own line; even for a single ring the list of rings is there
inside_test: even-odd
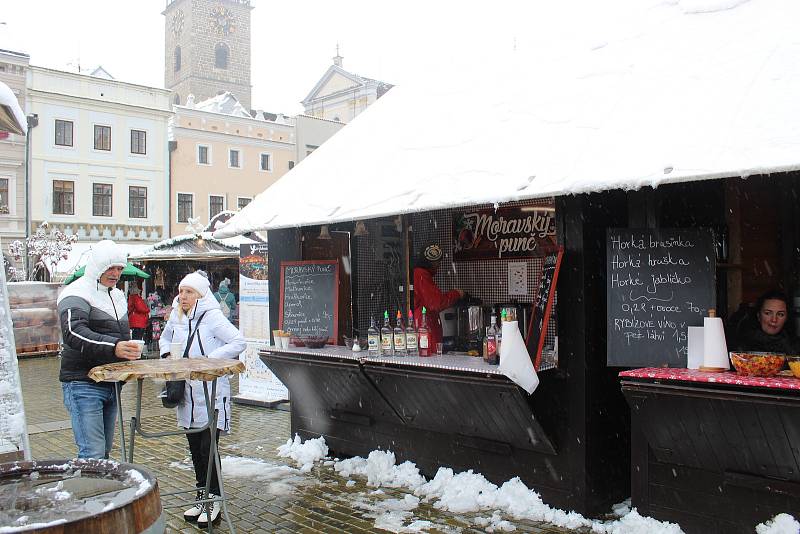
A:
[[[78,458],[108,458],[117,419],[114,384],[74,380],[62,382],[61,389],[72,419]]]

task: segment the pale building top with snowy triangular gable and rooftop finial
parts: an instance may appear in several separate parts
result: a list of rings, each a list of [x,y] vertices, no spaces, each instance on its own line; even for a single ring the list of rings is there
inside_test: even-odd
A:
[[[344,70],[342,59],[337,50],[333,65],[301,102],[306,115],[350,122],[392,88],[391,84]]]

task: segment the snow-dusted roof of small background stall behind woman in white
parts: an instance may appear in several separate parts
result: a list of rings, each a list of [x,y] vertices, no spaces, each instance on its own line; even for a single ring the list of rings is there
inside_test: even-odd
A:
[[[224,260],[239,257],[239,246],[255,243],[252,239],[237,236],[216,239],[211,232],[185,234],[156,243],[128,260],[137,262],[172,260]]]

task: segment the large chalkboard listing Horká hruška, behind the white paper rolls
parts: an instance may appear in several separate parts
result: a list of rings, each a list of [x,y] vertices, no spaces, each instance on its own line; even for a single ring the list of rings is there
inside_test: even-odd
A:
[[[608,365],[686,367],[688,327],[714,307],[715,259],[708,229],[608,230]]]

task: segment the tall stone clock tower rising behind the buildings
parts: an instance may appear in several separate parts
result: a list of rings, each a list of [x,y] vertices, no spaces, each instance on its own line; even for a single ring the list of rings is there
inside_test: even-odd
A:
[[[225,91],[250,109],[250,0],[166,0],[164,86],[173,101]]]

